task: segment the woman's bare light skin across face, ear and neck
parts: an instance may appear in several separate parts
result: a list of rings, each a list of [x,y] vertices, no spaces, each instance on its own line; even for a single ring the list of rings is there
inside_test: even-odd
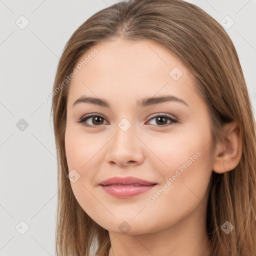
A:
[[[210,255],[205,223],[209,180],[212,170],[223,173],[238,164],[237,124],[225,125],[228,134],[213,151],[206,105],[195,92],[193,75],[172,52],[150,40],[117,38],[93,46],[80,60],[94,48],[99,52],[72,78],[68,92],[65,150],[68,170],[80,175],[70,182],[75,198],[108,230],[110,256]],[[174,67],[182,71],[177,80],[169,75]],[[144,97],[164,95],[186,104],[172,100],[136,105]],[[73,105],[82,96],[104,99],[109,107]],[[78,120],[88,114],[103,118],[99,124],[88,118],[84,123],[94,128],[86,127]],[[163,118],[161,124],[157,117],[162,114],[178,122]],[[118,126],[123,118],[131,124],[126,131]],[[190,157],[193,161],[188,162]],[[173,180],[184,163],[189,166]],[[135,176],[157,185],[116,198],[98,185],[113,176]],[[171,185],[154,197],[164,184],[166,188],[168,178]],[[128,232],[119,228],[123,221]]]

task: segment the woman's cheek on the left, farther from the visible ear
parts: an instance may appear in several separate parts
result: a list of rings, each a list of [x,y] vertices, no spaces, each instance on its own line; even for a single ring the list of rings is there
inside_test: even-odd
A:
[[[107,140],[105,135],[99,138],[96,132],[85,134],[81,128],[75,130],[71,125],[66,128],[65,152],[68,171],[74,169],[79,177],[75,182],[70,180],[70,184],[74,196],[86,212],[94,212],[95,197],[91,191],[98,181],[95,176],[100,169],[99,162],[103,159],[102,147]]]

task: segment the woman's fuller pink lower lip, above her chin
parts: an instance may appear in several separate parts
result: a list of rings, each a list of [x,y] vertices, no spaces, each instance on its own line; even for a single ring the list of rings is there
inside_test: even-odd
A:
[[[127,198],[134,195],[144,193],[152,189],[154,185],[100,185],[106,193],[118,197],[118,198]]]

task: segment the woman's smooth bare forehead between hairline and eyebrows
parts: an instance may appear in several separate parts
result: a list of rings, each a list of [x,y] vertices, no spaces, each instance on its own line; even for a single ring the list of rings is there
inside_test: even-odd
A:
[[[95,53],[97,52],[97,53]],[[139,95],[188,94],[193,75],[167,48],[150,40],[107,40],[88,49],[76,63],[69,95],[131,100]],[[188,88],[190,86],[190,89]],[[185,96],[185,95],[184,95]]]

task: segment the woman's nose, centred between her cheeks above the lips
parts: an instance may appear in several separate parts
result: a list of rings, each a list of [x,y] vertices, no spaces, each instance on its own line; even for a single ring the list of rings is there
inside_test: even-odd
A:
[[[127,131],[116,129],[115,135],[109,141],[107,162],[121,167],[141,164],[144,159],[143,143],[130,127]]]

